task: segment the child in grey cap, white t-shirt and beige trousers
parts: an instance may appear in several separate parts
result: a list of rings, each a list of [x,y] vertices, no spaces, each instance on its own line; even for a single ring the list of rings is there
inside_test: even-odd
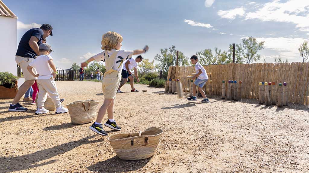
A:
[[[53,63],[53,58],[49,55],[52,51],[51,46],[48,44],[40,44],[40,56],[36,57],[36,59],[33,60],[27,67],[30,74],[34,77],[38,77],[37,85],[39,88],[39,96],[37,101],[38,106],[35,112],[36,114],[45,114],[49,112],[44,108],[44,101],[46,100],[47,93],[57,107],[56,114],[69,111],[67,108],[62,106],[59,99],[56,82],[54,80],[57,70],[55,64]],[[33,67],[36,68],[37,74],[33,72]]]

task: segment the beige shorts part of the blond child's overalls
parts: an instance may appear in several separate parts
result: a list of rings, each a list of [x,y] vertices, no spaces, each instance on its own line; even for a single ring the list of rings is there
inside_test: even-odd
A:
[[[116,92],[120,85],[121,73],[114,71],[110,74],[104,75],[102,82],[102,91],[105,99],[115,99]]]

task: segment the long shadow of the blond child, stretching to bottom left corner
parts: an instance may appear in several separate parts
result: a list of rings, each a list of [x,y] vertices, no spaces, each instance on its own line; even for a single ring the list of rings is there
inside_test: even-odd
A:
[[[44,150],[36,151],[35,153],[21,155],[21,156],[13,156],[13,157],[4,157],[0,156],[0,163],[2,167],[0,168],[0,173],[4,172],[15,172],[22,171],[33,167],[40,167],[43,165],[48,165],[56,162],[57,160],[50,160],[44,163],[42,162],[46,159],[50,159],[54,156],[63,154],[65,152],[71,151],[75,147],[88,144],[88,143],[97,143],[102,142],[104,139],[98,140],[90,140],[95,137],[95,135],[85,137],[83,139],[79,139],[77,141],[72,141],[69,143],[64,143],[52,148],[47,148]]]

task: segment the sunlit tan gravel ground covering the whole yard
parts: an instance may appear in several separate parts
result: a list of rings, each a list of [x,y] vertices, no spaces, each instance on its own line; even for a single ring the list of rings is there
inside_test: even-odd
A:
[[[99,82],[57,82],[64,104],[93,99],[103,104]],[[155,155],[124,161],[91,123],[73,125],[70,116],[9,112],[0,100],[2,172],[309,172],[309,110],[303,105],[258,105],[213,96],[210,103],[159,95],[164,88],[126,84],[116,95],[114,117],[121,132],[148,127],[164,134]],[[147,90],[147,92],[141,92]],[[105,117],[107,118],[107,116]],[[104,128],[109,134],[119,132]]]

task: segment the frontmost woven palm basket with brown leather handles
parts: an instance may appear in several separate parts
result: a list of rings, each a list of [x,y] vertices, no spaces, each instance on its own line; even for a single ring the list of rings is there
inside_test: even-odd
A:
[[[123,160],[147,159],[155,154],[163,130],[150,127],[139,133],[119,133],[108,137],[116,155]]]

